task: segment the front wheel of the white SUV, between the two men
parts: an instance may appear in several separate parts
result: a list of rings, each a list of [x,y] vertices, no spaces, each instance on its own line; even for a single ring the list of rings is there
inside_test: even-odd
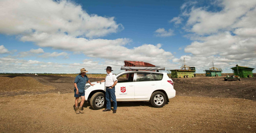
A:
[[[90,105],[92,109],[98,110],[102,109],[105,104],[105,94],[102,92],[96,92],[92,95],[90,99]]]

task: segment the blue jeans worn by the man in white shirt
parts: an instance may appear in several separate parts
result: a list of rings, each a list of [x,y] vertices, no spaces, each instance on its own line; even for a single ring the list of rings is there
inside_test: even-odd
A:
[[[111,109],[111,99],[113,101],[113,107],[114,109],[117,109],[117,99],[115,95],[115,87],[112,89],[109,89],[109,87],[106,87],[106,109]]]

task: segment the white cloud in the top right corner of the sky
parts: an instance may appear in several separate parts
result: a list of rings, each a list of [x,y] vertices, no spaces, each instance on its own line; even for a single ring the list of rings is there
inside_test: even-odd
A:
[[[219,12],[207,11],[205,7],[191,8],[187,21],[187,26],[192,27],[191,32],[203,35],[231,30],[233,24],[241,20],[240,17],[246,15],[247,12],[251,12],[252,9],[255,10],[256,1],[223,0],[217,4],[215,6],[223,7]]]

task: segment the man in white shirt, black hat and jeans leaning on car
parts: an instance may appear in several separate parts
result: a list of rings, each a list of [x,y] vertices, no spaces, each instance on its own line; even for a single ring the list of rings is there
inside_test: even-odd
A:
[[[117,84],[117,77],[114,75],[111,71],[112,68],[110,66],[106,67],[106,78],[102,81],[97,81],[99,82],[105,82],[106,86],[106,109],[103,111],[111,111],[111,99],[113,101],[113,113],[117,113],[117,99],[115,95],[115,85]]]

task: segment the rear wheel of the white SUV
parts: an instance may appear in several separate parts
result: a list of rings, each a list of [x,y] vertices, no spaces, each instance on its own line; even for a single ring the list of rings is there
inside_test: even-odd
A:
[[[151,95],[150,103],[154,107],[163,107],[166,103],[166,95],[160,91],[156,91]]]

